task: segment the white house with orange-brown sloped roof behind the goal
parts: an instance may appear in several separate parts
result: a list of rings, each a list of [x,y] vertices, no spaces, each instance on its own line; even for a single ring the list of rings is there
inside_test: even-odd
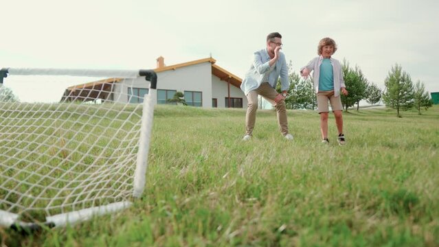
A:
[[[247,106],[247,97],[240,90],[243,80],[215,64],[214,58],[203,58],[181,64],[166,66],[164,58],[157,58],[157,104],[170,104],[168,99],[177,91],[184,94],[185,102],[190,106],[203,108],[243,108]],[[148,93],[149,83],[145,78],[137,78],[131,83],[118,84],[122,78],[111,78],[87,84],[70,86],[63,98],[78,96],[86,92],[83,100],[108,99],[119,102],[142,103],[143,95]],[[80,89],[80,90],[79,90]],[[93,89],[93,90],[91,90]],[[98,90],[97,90],[98,89]],[[93,95],[93,92],[97,92]],[[122,95],[128,95],[128,97]]]

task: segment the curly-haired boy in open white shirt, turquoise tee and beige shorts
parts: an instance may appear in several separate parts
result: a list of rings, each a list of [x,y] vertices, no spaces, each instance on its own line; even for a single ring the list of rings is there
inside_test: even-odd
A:
[[[300,74],[307,79],[309,73],[314,70],[314,89],[317,93],[317,111],[320,115],[320,130],[322,132],[322,143],[328,144],[328,113],[330,107],[335,116],[335,123],[339,135],[339,145],[344,145],[346,139],[343,134],[343,117],[341,115],[340,93],[348,95],[344,84],[341,64],[332,55],[337,51],[337,44],[332,38],[322,38],[317,47],[318,57],[311,60],[305,67],[300,69]]]

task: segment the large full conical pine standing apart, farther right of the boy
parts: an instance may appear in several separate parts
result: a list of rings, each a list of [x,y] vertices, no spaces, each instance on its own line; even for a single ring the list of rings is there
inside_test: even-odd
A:
[[[395,64],[385,78],[384,84],[383,100],[385,106],[396,109],[396,117],[401,117],[399,111],[408,110],[414,104],[412,78],[403,71],[400,65]]]

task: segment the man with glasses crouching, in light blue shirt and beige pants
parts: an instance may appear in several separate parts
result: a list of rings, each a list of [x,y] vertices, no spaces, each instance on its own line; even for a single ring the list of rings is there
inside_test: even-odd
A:
[[[245,115],[245,135],[243,140],[251,139],[258,109],[258,95],[267,99],[276,109],[279,130],[287,140],[292,140],[286,119],[285,101],[288,89],[288,67],[282,49],[282,35],[273,32],[267,36],[267,48],[254,53],[253,64],[245,74],[241,90],[247,96],[247,114]],[[282,93],[275,90],[280,75]]]

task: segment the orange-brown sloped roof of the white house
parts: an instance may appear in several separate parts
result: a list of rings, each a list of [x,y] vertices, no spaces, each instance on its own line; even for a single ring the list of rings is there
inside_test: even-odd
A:
[[[230,73],[229,71],[219,67],[218,65],[215,64],[216,60],[214,60],[214,58],[203,58],[203,59],[199,59],[199,60],[193,60],[190,62],[183,62],[183,63],[179,63],[179,64],[173,64],[173,65],[169,65],[169,66],[165,66],[165,67],[160,67],[157,69],[154,69],[154,71],[156,73],[162,72],[162,71],[168,71],[168,70],[176,70],[179,69],[181,67],[188,67],[190,65],[194,65],[194,64],[201,64],[203,62],[210,62],[210,64],[212,64],[212,74],[215,75],[216,77],[220,78],[221,80],[225,81],[225,82],[230,82],[230,84],[236,86],[236,87],[240,87],[241,83],[243,82],[243,80],[241,78],[238,78],[238,76],[234,75],[233,73]],[[95,82],[88,82],[85,84],[78,84],[78,85],[74,85],[74,86],[69,86],[67,88],[67,90],[75,90],[75,89],[83,89],[83,88],[87,88],[90,86],[97,86],[99,84],[105,84],[105,83],[111,83],[111,82],[120,82],[122,80],[122,78],[109,78],[109,79],[104,79],[104,80],[98,80]]]

